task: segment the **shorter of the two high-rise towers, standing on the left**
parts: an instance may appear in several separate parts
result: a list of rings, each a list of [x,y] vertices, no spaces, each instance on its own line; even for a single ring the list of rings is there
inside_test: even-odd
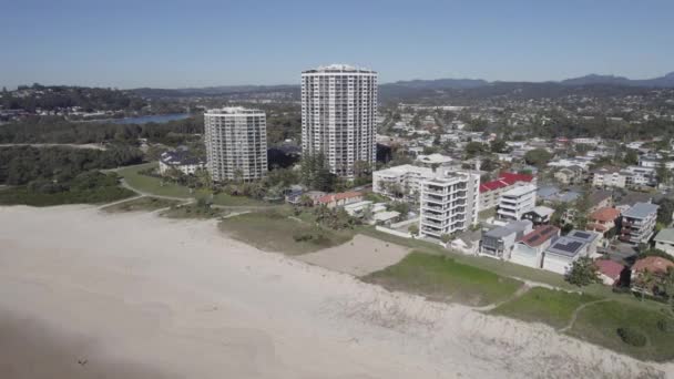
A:
[[[254,181],[266,175],[264,112],[241,106],[208,110],[204,129],[207,168],[214,181]]]

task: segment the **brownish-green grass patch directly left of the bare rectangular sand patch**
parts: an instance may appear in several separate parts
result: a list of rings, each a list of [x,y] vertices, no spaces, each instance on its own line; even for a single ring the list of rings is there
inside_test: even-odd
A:
[[[351,231],[328,231],[315,224],[287,217],[285,209],[247,213],[221,222],[221,229],[233,238],[266,252],[298,255],[341,245]],[[296,240],[297,236],[312,236]]]

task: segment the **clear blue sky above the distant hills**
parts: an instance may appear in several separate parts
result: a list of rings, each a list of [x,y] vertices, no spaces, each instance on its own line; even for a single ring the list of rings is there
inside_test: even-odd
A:
[[[380,82],[544,81],[674,71],[672,0],[18,0],[0,7],[0,85],[298,83],[350,63]]]

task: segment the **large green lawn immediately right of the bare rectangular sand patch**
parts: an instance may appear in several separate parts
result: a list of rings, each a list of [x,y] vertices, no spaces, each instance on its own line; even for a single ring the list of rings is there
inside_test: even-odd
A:
[[[519,280],[460,264],[453,258],[420,252],[412,252],[398,264],[362,279],[390,290],[472,306],[506,300],[522,286]]]

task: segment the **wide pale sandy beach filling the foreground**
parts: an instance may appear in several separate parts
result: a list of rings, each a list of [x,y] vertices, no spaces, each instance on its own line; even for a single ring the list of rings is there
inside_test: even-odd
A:
[[[396,256],[402,256],[397,252]],[[330,260],[330,259],[328,259]],[[549,327],[388,293],[215,222],[0,207],[0,378],[664,378]],[[355,268],[354,268],[355,267]]]

